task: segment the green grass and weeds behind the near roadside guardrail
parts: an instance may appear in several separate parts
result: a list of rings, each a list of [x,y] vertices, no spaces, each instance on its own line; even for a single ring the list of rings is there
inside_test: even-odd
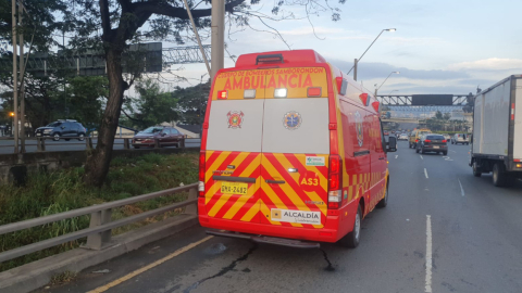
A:
[[[62,213],[79,207],[116,201],[139,194],[189,184],[198,180],[198,154],[147,154],[137,158],[115,157],[101,189],[87,187],[82,181],[83,168],[72,168],[28,178],[25,187],[0,186],[0,225]],[[112,213],[120,219],[141,212],[169,205],[186,199],[188,193],[176,193],[133,205],[122,206]],[[159,215],[144,222],[121,227],[113,234],[154,222],[170,215]],[[61,220],[41,227],[0,235],[0,252],[27,245],[52,237],[88,228],[89,216]],[[77,247],[85,239],[64,243],[11,262],[0,264],[0,271],[30,263],[46,256]]]

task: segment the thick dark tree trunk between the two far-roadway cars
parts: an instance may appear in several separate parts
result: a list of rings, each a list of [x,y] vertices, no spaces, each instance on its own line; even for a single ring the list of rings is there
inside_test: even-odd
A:
[[[109,99],[98,131],[98,143],[85,164],[84,182],[101,187],[109,173],[114,136],[123,103],[123,92],[127,85],[122,76],[122,52],[110,47],[105,51],[107,74],[109,77]],[[120,48],[120,47],[117,47]]]

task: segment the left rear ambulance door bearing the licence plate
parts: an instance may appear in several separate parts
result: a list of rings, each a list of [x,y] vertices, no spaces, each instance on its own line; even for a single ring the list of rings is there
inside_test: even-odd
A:
[[[206,152],[206,209],[211,218],[259,222],[265,76],[216,76]]]

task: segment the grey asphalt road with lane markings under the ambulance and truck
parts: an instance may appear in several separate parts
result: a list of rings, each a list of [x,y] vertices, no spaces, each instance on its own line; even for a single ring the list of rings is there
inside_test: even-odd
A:
[[[355,250],[256,245],[194,228],[38,292],[114,281],[97,292],[522,292],[522,182],[495,188],[490,175],[472,176],[469,145],[449,150],[419,155],[399,142],[388,155],[388,206],[362,221]]]

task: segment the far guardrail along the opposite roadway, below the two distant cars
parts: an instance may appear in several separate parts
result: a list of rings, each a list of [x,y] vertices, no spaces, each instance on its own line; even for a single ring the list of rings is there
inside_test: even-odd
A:
[[[92,143],[92,138],[90,137],[61,137],[60,140],[78,140],[78,142],[64,142],[64,143],[52,143],[52,144],[47,144],[46,141],[47,140],[52,140],[52,138],[26,138],[25,141],[36,141],[36,144],[35,143],[26,143],[25,146],[36,146],[37,149],[37,152],[45,152],[46,151],[46,146],[49,145],[49,146],[59,146],[59,145],[79,145],[79,144],[85,144],[85,148],[86,150],[92,150],[95,149],[95,144]],[[13,141],[13,144],[10,144],[10,145],[1,145],[0,144],[0,148],[14,148],[14,139],[13,138],[0,138],[0,141],[5,141],[5,140],[11,140]],[[123,142],[116,142],[117,140],[120,141],[123,141]],[[153,148],[153,149],[159,149],[159,148],[163,148],[163,146],[174,146],[173,144],[176,144],[176,143],[173,143],[173,142],[165,142],[165,141],[162,141],[163,139],[161,138],[154,138],[154,139],[151,139],[153,140],[153,142],[148,142],[148,143],[141,143],[141,144],[137,144],[138,148]],[[185,139],[179,143],[178,148],[185,148],[185,143],[186,142],[190,142],[190,140],[197,140],[197,139],[189,139],[187,136],[185,136]],[[123,145],[123,149],[124,150],[129,150],[132,149],[133,146],[133,138],[115,138],[114,139],[114,144],[113,145]],[[18,146],[20,148],[20,146]],[[137,149],[137,148],[136,148]]]

